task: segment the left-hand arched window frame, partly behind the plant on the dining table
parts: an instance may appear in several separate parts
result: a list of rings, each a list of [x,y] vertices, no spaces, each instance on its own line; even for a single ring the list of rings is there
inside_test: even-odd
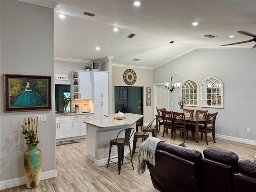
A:
[[[199,84],[194,79],[186,79],[182,82],[180,86],[180,97],[184,98],[186,96],[186,106],[199,106],[198,88]]]

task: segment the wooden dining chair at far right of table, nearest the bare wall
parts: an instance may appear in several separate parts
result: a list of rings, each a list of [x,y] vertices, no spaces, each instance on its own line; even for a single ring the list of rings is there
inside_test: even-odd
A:
[[[217,114],[218,112],[208,113],[205,126],[203,128],[199,127],[199,132],[201,133],[201,139],[203,138],[203,133],[204,133],[204,137],[207,145],[208,145],[207,133],[212,133],[213,142],[216,143],[214,133],[215,133],[215,120],[216,120]]]

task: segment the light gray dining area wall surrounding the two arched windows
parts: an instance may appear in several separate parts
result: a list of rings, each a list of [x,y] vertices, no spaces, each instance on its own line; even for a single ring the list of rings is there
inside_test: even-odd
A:
[[[175,75],[174,72],[179,74]],[[156,68],[154,84],[168,82],[170,63]],[[174,82],[187,78],[199,85],[209,76],[220,78],[224,84],[224,108],[200,108],[218,112],[216,134],[232,140],[251,140],[256,144],[256,49],[196,49],[173,60]],[[170,110],[178,111],[179,90],[170,93]],[[246,132],[250,128],[250,132]],[[250,142],[250,141],[249,141]]]

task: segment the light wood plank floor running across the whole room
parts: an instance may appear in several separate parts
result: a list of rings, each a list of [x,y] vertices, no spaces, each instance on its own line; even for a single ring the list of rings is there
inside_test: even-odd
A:
[[[170,139],[170,134],[162,137],[162,128],[158,138],[166,140],[172,144],[180,144],[183,138],[179,134],[175,141]],[[79,139],[80,143],[56,146],[57,174],[55,178],[42,180],[40,185],[34,189],[27,189],[26,185],[17,186],[1,190],[0,192],[157,192],[151,182],[149,171],[139,175],[136,172],[137,156],[134,154],[132,165],[126,164],[121,167],[121,173],[118,175],[118,166],[110,164],[108,169],[106,165],[96,167],[93,162],[87,158],[86,139]],[[138,140],[139,146],[141,140]],[[239,160],[248,159],[254,161],[253,155],[256,153],[256,146],[242,144],[216,138],[216,143],[211,137],[208,137],[208,146],[203,138],[199,140],[199,146],[192,140],[191,133],[186,138],[186,147],[193,148],[201,153],[207,147],[215,147],[223,150],[235,152]]]

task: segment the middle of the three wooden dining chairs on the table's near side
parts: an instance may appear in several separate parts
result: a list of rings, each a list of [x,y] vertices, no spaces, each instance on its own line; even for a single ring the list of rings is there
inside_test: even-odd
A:
[[[186,132],[192,132],[192,137],[194,139],[194,129],[190,126],[186,126],[186,122],[185,122],[185,114],[184,113],[179,113],[179,112],[172,112],[173,115],[173,124],[174,124],[174,138],[173,140],[175,140],[176,138],[176,132],[180,131],[183,133],[183,137],[184,137],[184,141],[186,139]]]

